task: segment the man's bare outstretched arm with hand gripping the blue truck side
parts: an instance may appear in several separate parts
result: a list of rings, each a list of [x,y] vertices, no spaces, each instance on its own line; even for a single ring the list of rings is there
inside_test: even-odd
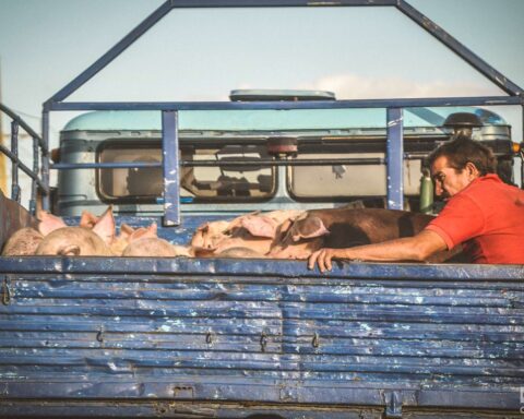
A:
[[[347,249],[321,249],[311,254],[308,267],[319,264],[321,272],[331,271],[332,259],[358,259],[362,261],[425,261],[430,255],[446,250],[444,239],[431,230],[422,230],[414,237],[384,241],[377,244],[358,246]]]

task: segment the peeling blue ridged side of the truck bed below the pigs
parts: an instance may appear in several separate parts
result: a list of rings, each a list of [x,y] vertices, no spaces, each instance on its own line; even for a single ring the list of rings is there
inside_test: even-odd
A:
[[[522,265],[320,275],[293,261],[2,258],[0,416],[519,417],[522,278]]]

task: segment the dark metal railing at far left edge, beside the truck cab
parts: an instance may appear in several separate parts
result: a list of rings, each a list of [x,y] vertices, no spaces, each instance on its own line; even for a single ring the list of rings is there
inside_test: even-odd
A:
[[[32,179],[29,212],[36,213],[36,201],[38,191],[43,196],[49,194],[49,183],[45,182],[39,176],[38,161],[48,158],[49,151],[38,135],[19,115],[0,104],[0,115],[5,113],[11,119],[11,148],[0,144],[0,153],[4,154],[11,160],[11,199],[20,203],[21,188],[19,184],[19,170],[22,170]],[[33,140],[33,168],[29,169],[19,157],[19,130],[22,128]],[[41,153],[41,154],[40,154]]]

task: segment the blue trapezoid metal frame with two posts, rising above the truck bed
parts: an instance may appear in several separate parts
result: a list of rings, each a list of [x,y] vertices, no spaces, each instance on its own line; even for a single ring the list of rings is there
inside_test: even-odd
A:
[[[131,101],[131,103],[64,103],[63,100],[78,88],[90,81],[95,74],[109,64],[124,51],[140,36],[146,33],[162,17],[174,9],[184,8],[291,8],[291,7],[395,7],[439,41],[444,44],[464,61],[484,74],[509,96],[489,97],[439,97],[420,99],[389,99],[389,100],[337,100],[337,101],[253,101],[253,103],[216,103],[216,101]],[[425,106],[478,106],[478,105],[521,105],[524,119],[524,92],[515,83],[499,73],[472,50],[462,45],[453,36],[438,26],[429,17],[413,8],[405,0],[338,0],[309,2],[308,0],[166,0],[158,9],[150,14],[142,23],[126,35],[105,55],[79,74],[74,80],[57,92],[43,105],[43,139],[47,148],[49,143],[49,112],[58,110],[160,110],[163,111],[163,147],[178,149],[177,111],[179,110],[218,110],[218,109],[333,109],[333,108],[374,108],[388,109],[388,203],[390,208],[403,207],[403,177],[402,177],[402,108]],[[172,123],[175,121],[175,123]],[[175,155],[177,153],[174,153]],[[178,157],[177,157],[178,158]],[[178,161],[177,161],[178,164]],[[165,225],[176,225],[180,222],[178,201],[178,166],[175,160],[164,158],[165,173]],[[41,176],[44,183],[49,184],[49,157],[43,156]],[[46,194],[43,206],[49,208],[49,196]]]

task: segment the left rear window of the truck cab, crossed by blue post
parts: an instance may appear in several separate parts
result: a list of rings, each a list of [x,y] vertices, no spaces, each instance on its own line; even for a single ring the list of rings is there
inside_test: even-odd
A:
[[[195,166],[180,170],[180,196],[186,202],[260,201],[274,195],[276,172],[253,163],[267,159],[264,146],[190,145],[181,147],[180,159]],[[97,151],[99,163],[162,161],[160,144],[104,142]],[[212,166],[198,166],[198,163]],[[219,161],[228,163],[221,167]],[[235,165],[231,166],[231,163]],[[238,163],[238,165],[236,164]],[[155,202],[163,193],[162,168],[99,169],[97,192],[106,202]]]

